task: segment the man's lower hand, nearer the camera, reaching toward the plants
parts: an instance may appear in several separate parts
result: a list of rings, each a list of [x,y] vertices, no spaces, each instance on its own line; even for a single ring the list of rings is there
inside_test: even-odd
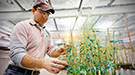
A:
[[[56,58],[49,58],[44,60],[42,66],[47,71],[57,74],[67,66],[67,63]]]

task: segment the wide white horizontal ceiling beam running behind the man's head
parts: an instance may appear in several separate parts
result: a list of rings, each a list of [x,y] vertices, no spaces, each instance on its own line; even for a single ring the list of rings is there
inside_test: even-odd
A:
[[[104,8],[95,8],[91,13],[91,16],[94,15],[114,15],[114,14],[123,14],[123,13],[135,13],[135,5],[128,6],[117,6],[117,7],[104,7]],[[91,10],[82,9],[82,16],[87,16]],[[0,19],[25,19],[31,18],[33,15],[31,12],[24,11],[12,11],[12,12],[1,12]],[[50,18],[63,18],[63,17],[78,17],[78,10],[56,10],[55,14],[50,15]]]

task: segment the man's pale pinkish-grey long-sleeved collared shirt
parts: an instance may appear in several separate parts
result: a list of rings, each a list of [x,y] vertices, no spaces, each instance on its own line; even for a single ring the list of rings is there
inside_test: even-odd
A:
[[[26,54],[44,58],[46,53],[51,56],[54,49],[56,47],[45,27],[40,27],[33,19],[19,22],[11,33],[10,64],[23,67],[21,61]]]

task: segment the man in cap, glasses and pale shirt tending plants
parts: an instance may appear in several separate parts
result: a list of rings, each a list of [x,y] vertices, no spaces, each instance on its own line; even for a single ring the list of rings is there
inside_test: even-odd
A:
[[[57,74],[67,65],[46,53],[58,57],[66,53],[64,46],[55,47],[50,33],[43,26],[54,10],[47,1],[37,0],[32,8],[33,18],[19,22],[11,33],[10,64],[4,75],[39,75],[39,69]]]

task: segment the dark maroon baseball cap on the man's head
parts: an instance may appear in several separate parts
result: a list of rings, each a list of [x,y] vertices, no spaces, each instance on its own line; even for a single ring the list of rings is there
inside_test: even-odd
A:
[[[37,5],[39,5],[41,10],[43,10],[43,11],[49,10],[52,14],[55,13],[55,10],[49,5],[48,1],[46,1],[46,0],[36,0],[34,3],[34,6],[37,6]]]

